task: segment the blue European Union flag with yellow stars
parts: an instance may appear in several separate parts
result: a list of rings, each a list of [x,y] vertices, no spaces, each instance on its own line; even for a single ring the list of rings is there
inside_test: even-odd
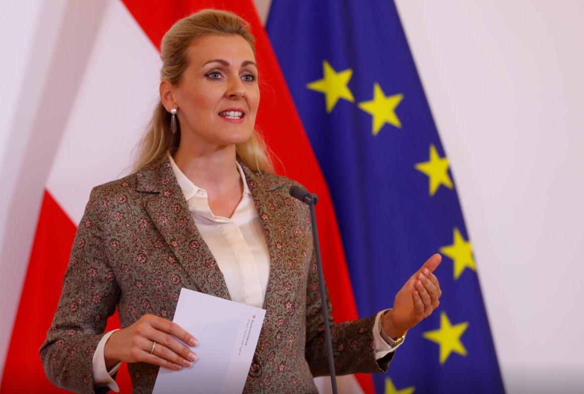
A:
[[[359,315],[390,307],[430,255],[444,256],[439,309],[374,376],[376,391],[504,392],[450,163],[394,3],[274,1],[267,31],[331,191]]]

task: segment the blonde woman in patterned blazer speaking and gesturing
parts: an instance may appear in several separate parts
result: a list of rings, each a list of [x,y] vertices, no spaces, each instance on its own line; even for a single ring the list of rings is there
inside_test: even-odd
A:
[[[310,215],[254,131],[253,45],[243,20],[217,10],[165,34],[137,171],[94,188],[79,223],[40,350],[55,385],[115,389],[125,361],[134,392],[151,392],[159,366],[196,368],[196,333],[171,322],[182,287],[267,309],[244,392],[314,393],[312,377],[329,373]],[[439,263],[412,275],[392,309],[332,326],[338,374],[387,370],[439,304]],[[123,329],[103,333],[116,306]]]

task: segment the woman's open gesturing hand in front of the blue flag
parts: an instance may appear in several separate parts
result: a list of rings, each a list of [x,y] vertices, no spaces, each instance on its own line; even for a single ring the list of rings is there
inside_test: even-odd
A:
[[[394,307],[383,315],[383,329],[389,337],[404,335],[438,307],[442,290],[433,272],[440,261],[442,256],[432,255],[395,295]]]

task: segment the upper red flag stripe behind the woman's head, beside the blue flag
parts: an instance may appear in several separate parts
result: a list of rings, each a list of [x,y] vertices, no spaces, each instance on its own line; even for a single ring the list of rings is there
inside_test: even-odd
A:
[[[262,132],[276,156],[277,173],[301,182],[308,190],[318,194],[317,220],[321,228],[319,239],[322,265],[334,307],[333,314],[339,322],[356,319],[357,307],[331,196],[252,1],[183,0],[173,1],[172,5],[157,0],[123,2],[158,50],[162,36],[176,20],[200,9],[227,9],[251,24],[256,38],[256,60],[262,96],[256,128]],[[370,375],[357,374],[356,377],[364,392],[375,392]]]

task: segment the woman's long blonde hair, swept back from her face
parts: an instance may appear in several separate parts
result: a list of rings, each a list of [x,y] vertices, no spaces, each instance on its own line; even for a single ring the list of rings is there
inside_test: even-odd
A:
[[[208,34],[241,36],[255,53],[255,40],[248,22],[231,12],[204,9],[178,20],[162,37],[161,80],[178,85],[189,65],[187,50],[194,40]],[[170,124],[171,114],[159,101],[144,137],[138,142],[134,171],[145,166],[157,165],[166,159],[167,154],[176,152],[180,143],[180,125],[177,127],[178,132],[173,134]],[[252,171],[273,172],[266,143],[258,131],[254,130],[246,142],[235,146],[235,150],[238,159]]]

